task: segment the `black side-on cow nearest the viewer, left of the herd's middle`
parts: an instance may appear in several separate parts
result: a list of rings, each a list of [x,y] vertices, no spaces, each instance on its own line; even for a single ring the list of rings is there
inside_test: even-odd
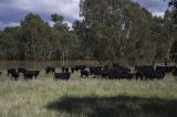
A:
[[[54,73],[53,79],[70,79],[71,73],[62,72],[62,73]]]

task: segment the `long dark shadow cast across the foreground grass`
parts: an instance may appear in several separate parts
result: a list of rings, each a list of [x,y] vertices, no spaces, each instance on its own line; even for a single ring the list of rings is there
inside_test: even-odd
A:
[[[46,106],[82,117],[177,117],[177,100],[142,97],[63,97]]]

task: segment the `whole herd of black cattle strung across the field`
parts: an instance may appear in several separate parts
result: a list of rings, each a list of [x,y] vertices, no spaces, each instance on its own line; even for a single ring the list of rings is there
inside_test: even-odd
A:
[[[140,65],[135,66],[133,70],[113,64],[112,67],[108,65],[104,66],[86,66],[86,65],[75,65],[72,67],[61,67],[62,72],[56,73],[55,67],[48,66],[45,67],[45,74],[53,74],[54,79],[70,79],[71,74],[79,72],[81,77],[88,77],[94,75],[96,77],[108,78],[108,79],[162,79],[167,73],[171,73],[174,76],[177,76],[176,66],[152,66],[152,65]],[[1,74],[1,72],[0,72]],[[37,78],[40,74],[40,71],[28,71],[27,68],[8,68],[8,76],[11,76],[12,79],[18,81],[20,75],[23,75],[24,79]]]

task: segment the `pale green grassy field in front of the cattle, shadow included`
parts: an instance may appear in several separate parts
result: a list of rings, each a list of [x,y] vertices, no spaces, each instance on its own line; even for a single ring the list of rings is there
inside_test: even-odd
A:
[[[11,81],[0,76],[0,117],[177,117],[177,78]]]

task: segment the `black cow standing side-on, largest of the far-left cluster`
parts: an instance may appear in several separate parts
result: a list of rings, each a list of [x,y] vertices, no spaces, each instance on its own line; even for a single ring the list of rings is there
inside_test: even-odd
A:
[[[25,71],[23,76],[24,76],[24,79],[32,79],[33,77],[37,78],[39,74],[40,74],[40,71]]]

